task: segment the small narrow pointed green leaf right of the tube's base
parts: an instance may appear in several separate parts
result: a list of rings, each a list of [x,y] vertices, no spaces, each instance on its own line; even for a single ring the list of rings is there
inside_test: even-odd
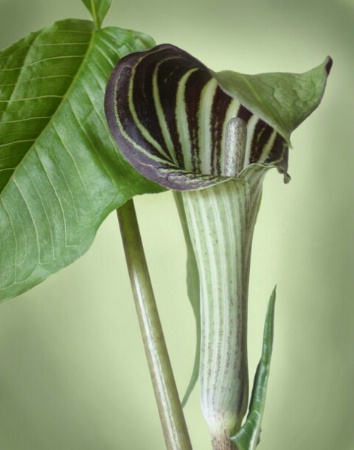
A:
[[[231,441],[239,450],[255,450],[260,440],[273,349],[275,297],[276,289],[274,288],[268,303],[262,356],[257,367],[247,419],[241,429],[231,437]]]

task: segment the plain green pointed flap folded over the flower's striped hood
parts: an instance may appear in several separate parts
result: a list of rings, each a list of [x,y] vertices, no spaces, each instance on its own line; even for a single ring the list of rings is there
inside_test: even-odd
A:
[[[214,73],[223,90],[237,98],[283,136],[290,134],[320,104],[332,59],[308,72],[244,75],[229,70]]]

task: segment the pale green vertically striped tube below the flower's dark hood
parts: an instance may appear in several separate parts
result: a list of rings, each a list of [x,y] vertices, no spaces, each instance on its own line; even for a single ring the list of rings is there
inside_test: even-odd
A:
[[[213,450],[230,436],[248,402],[247,297],[260,184],[232,180],[183,192],[201,288],[200,390]]]

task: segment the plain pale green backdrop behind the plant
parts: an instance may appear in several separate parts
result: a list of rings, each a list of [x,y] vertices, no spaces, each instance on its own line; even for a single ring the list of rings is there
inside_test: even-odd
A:
[[[278,285],[260,450],[353,450],[354,4],[114,0],[106,24],[183,47],[214,70],[301,72],[334,59],[323,104],[293,135],[292,182],[267,176],[253,252],[250,368]],[[0,0],[1,47],[79,0]],[[180,392],[194,354],[185,250],[170,194],[136,201]],[[162,450],[115,215],[71,267],[0,307],[1,450]],[[197,392],[195,450],[210,449]]]

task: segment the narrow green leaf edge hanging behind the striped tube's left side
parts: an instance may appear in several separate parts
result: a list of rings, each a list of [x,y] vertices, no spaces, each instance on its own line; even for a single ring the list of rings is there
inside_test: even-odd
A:
[[[174,197],[179,213],[179,217],[182,224],[183,235],[187,247],[187,291],[188,298],[191,303],[195,324],[196,324],[196,349],[191,379],[188,387],[182,399],[182,406],[186,406],[188,399],[193,392],[193,389],[198,381],[199,377],[199,364],[200,364],[200,285],[199,285],[199,272],[197,267],[197,261],[195,259],[192,241],[188,231],[186,213],[184,211],[183,200],[180,192],[174,192]]]

